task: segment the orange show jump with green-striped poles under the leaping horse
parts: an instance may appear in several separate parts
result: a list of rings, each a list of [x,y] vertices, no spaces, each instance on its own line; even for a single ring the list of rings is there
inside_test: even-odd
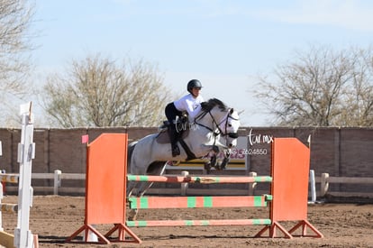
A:
[[[96,234],[94,243],[141,243],[130,227],[192,226],[192,225],[265,225],[255,237],[322,238],[307,221],[308,175],[310,150],[295,138],[275,138],[272,143],[271,176],[265,177],[178,177],[143,176],[126,174],[127,134],[103,133],[87,144],[86,157],[86,211],[85,222],[68,243],[92,243],[88,234]],[[270,182],[271,194],[263,196],[231,197],[126,197],[126,182],[153,181],[168,183],[252,183]],[[126,202],[131,209],[141,208],[197,208],[197,207],[269,207],[265,219],[211,219],[211,220],[138,220],[126,221]],[[296,225],[287,231],[280,222]],[[112,224],[106,234],[100,234],[96,225]],[[307,228],[308,227],[308,228]],[[301,234],[295,234],[301,229]],[[307,234],[310,229],[314,234]],[[111,237],[118,231],[117,237]],[[77,239],[77,235],[83,238]],[[126,234],[129,236],[126,237]]]

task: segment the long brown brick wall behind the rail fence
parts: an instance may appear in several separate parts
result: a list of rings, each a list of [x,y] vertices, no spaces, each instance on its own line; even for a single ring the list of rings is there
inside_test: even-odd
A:
[[[100,133],[128,133],[129,140],[156,133],[157,128],[77,128],[77,129],[35,129],[35,159],[32,172],[47,173],[62,170],[67,173],[86,172],[86,144],[81,143],[81,136],[89,135],[93,141]],[[21,130],[0,129],[0,141],[3,144],[3,156],[0,157],[0,169],[16,173],[17,146]],[[270,144],[268,137],[296,137],[308,144],[311,135],[311,169],[319,177],[323,172],[331,176],[373,177],[373,129],[371,128],[281,128],[281,127],[243,127],[241,136],[250,136],[248,148],[266,149],[266,155],[250,155],[246,160],[249,170],[259,175],[268,175],[270,166]],[[246,174],[249,171],[246,171]],[[228,173],[224,172],[224,173]],[[52,182],[42,180],[40,186],[49,186]],[[84,187],[84,182],[64,182]],[[372,192],[370,185],[352,185],[341,187],[333,185],[333,190]]]

